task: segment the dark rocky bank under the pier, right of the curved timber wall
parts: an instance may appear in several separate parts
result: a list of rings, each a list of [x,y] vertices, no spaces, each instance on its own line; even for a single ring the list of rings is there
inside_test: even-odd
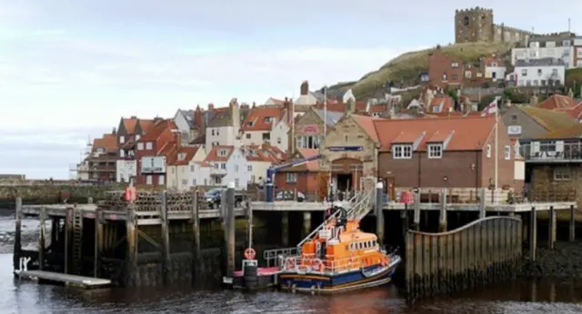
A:
[[[557,242],[555,250],[539,243],[536,261],[524,250],[524,262],[519,273],[528,278],[582,279],[582,241]]]

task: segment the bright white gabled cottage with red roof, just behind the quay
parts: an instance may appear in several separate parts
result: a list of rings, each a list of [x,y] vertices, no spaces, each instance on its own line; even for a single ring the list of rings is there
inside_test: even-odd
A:
[[[251,180],[251,171],[248,162],[240,148],[234,145],[215,145],[205,162],[210,165],[208,185],[226,186],[228,182],[235,182],[235,188],[246,190],[246,185]],[[204,182],[204,173],[194,173],[192,180]]]

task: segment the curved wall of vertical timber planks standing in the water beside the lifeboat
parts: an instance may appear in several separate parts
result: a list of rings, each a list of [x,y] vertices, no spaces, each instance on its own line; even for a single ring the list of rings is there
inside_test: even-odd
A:
[[[488,217],[454,231],[406,234],[406,293],[415,300],[472,289],[516,275],[522,222]]]

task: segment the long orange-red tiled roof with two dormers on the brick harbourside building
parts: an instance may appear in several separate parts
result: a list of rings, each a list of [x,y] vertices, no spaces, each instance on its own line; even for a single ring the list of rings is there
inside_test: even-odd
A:
[[[447,151],[482,150],[487,139],[493,132],[495,117],[466,116],[459,118],[408,119],[408,120],[376,120],[376,132],[382,151],[390,151],[392,142],[406,130],[411,137],[425,136],[420,141],[417,151],[426,151],[426,142],[433,136],[439,138],[443,134],[453,135],[448,142]],[[436,135],[436,134],[439,135]],[[414,135],[413,135],[414,134]]]

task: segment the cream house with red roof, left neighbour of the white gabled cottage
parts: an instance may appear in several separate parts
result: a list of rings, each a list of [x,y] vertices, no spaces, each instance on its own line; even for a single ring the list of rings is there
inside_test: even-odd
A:
[[[196,186],[192,181],[192,162],[202,162],[206,152],[196,146],[181,146],[167,156],[166,182],[173,190],[186,191]]]

